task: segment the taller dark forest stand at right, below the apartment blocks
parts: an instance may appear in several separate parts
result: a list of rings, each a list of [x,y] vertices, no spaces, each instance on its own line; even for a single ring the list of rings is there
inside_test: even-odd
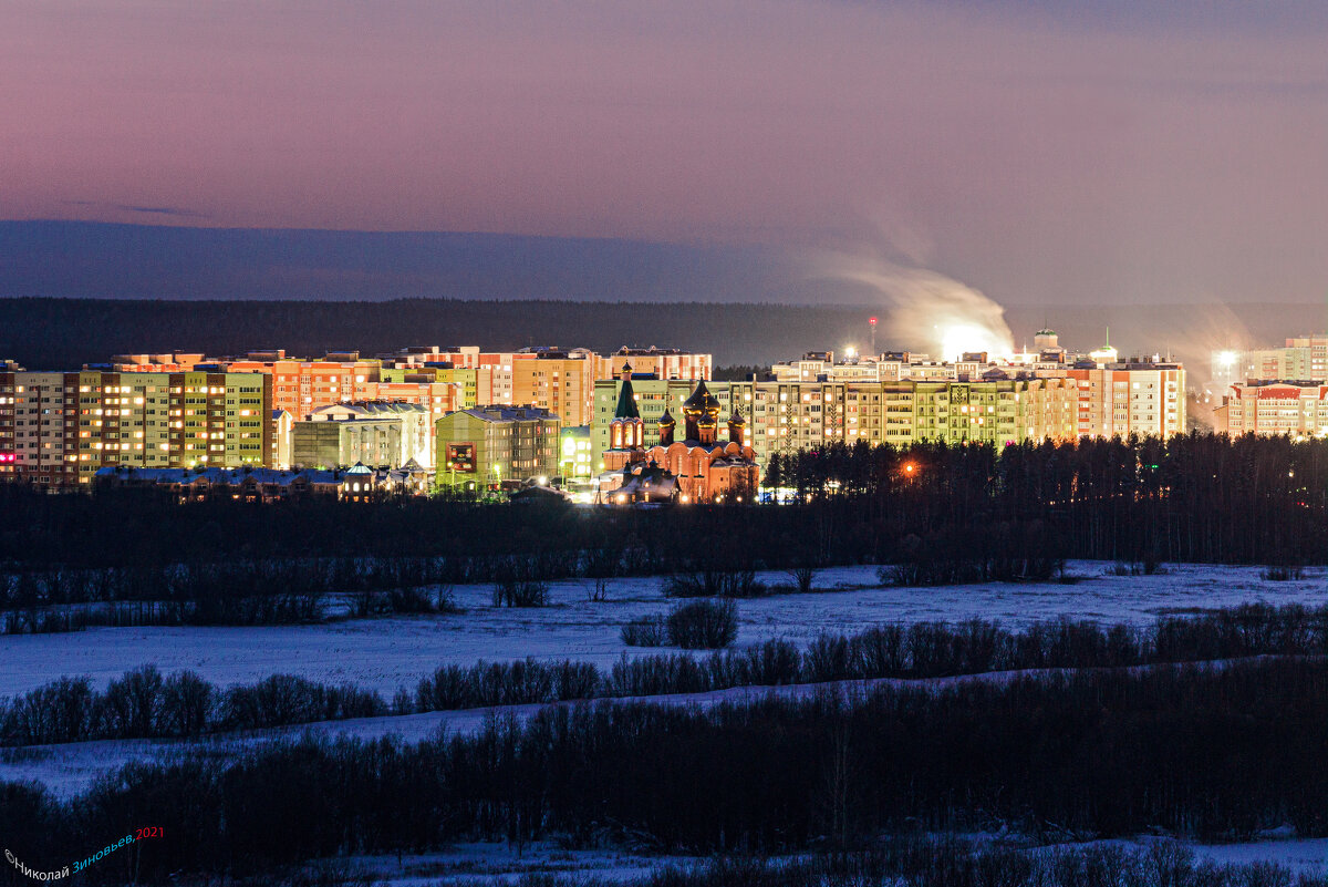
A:
[[[890,562],[911,547],[1028,563],[1321,563],[1328,551],[1324,440],[833,444],[772,458],[762,483],[857,503]]]

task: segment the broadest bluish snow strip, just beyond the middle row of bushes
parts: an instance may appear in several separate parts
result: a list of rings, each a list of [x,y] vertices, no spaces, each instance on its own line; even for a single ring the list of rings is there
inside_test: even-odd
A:
[[[1008,625],[1061,615],[1102,621],[1150,621],[1159,612],[1215,608],[1251,600],[1321,604],[1323,570],[1295,582],[1267,582],[1258,567],[1169,566],[1165,575],[1109,576],[1105,563],[1072,563],[1077,584],[985,583],[944,588],[882,587],[875,567],[817,574],[827,594],[776,595],[738,603],[738,645],[769,637],[799,644],[822,632],[854,633],[882,623],[996,619]],[[774,572],[764,579],[788,583]],[[608,667],[628,648],[623,623],[669,607],[659,578],[610,583],[610,603],[591,603],[586,582],[554,583],[552,605],[503,609],[487,586],[456,590],[463,613],[396,616],[320,625],[262,628],[96,628],[66,635],[0,636],[0,696],[23,693],[61,675],[88,675],[98,686],[155,663],[165,672],[193,669],[219,684],[252,683],[274,673],[351,681],[385,697],[414,688],[438,665],[477,660],[574,659]]]

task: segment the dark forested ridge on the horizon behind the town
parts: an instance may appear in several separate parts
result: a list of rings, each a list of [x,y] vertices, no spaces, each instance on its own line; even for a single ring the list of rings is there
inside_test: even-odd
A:
[[[716,364],[769,364],[806,351],[867,345],[861,305],[706,304],[699,301],[533,301],[393,299],[388,301],[165,301],[105,299],[7,299],[0,301],[0,357],[32,369],[69,369],[113,353],[202,351],[232,355],[286,348],[295,355],[359,349],[365,355],[405,345],[477,344],[495,349],[624,344],[710,352]],[[1121,305],[1015,307],[1007,311],[1016,343],[1032,341],[1050,323],[1077,349],[1112,344],[1122,355],[1166,353],[1206,380],[1208,352],[1242,341],[1280,344],[1288,335],[1324,328],[1319,305],[1222,307]],[[878,348],[923,349],[896,343],[890,312],[880,311]]]

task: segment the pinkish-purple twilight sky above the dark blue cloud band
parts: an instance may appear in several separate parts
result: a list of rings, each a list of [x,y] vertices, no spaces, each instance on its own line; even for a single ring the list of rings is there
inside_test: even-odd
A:
[[[757,246],[1005,304],[1312,301],[1328,4],[0,0],[0,219]]]

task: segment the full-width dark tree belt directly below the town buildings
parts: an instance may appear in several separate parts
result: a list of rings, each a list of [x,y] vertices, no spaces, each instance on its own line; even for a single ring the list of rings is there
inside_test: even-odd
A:
[[[912,466],[912,471],[907,471]],[[772,459],[765,482],[799,505],[608,510],[382,503],[174,505],[0,489],[0,564],[142,567],[263,558],[441,558],[441,582],[955,562],[947,575],[1017,579],[1064,558],[1157,563],[1323,563],[1328,441],[833,445]],[[171,519],[165,519],[170,514]],[[722,540],[722,544],[720,544]],[[441,564],[441,566],[440,566]],[[393,567],[394,568],[394,567]]]

